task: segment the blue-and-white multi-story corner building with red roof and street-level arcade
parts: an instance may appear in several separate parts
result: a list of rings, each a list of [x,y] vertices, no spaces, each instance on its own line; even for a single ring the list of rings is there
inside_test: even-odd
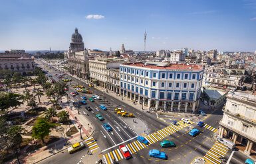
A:
[[[184,63],[123,63],[120,93],[144,106],[171,111],[195,111],[199,104],[203,67]]]

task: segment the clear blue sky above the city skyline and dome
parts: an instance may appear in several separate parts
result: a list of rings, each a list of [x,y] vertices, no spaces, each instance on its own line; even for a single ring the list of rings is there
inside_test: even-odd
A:
[[[0,50],[256,50],[256,0],[0,0]],[[86,19],[87,18],[87,19]]]

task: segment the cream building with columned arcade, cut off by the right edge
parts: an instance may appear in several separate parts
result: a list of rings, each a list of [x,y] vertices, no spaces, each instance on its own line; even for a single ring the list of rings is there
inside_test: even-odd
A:
[[[256,151],[256,96],[242,91],[229,93],[223,112],[219,138],[243,145],[248,155]]]

